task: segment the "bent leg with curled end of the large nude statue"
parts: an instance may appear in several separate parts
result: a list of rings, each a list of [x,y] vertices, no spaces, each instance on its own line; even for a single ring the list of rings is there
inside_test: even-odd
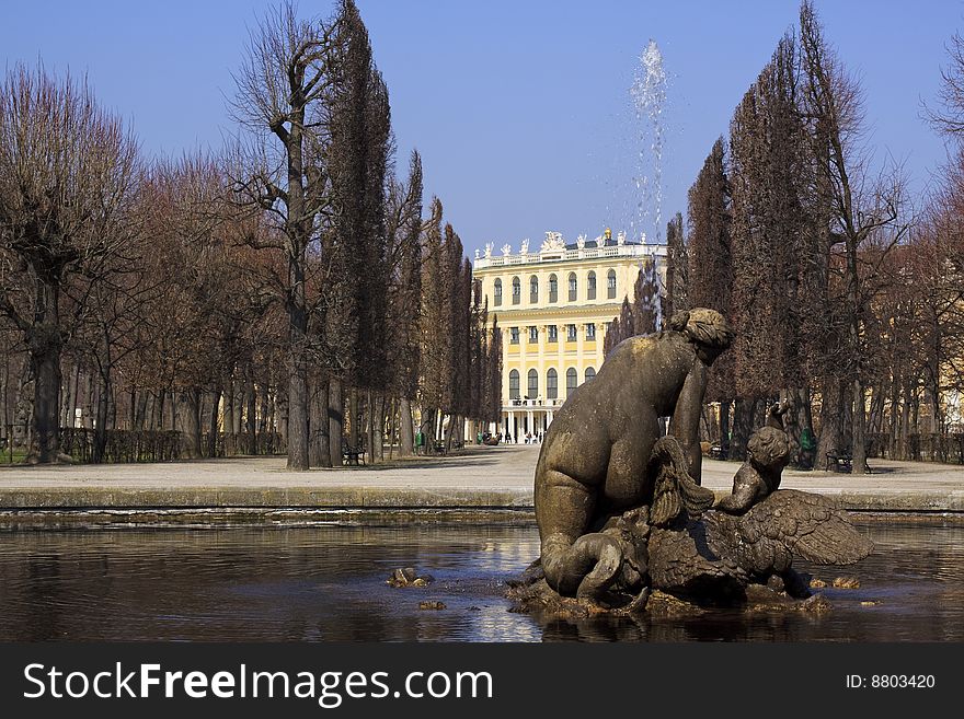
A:
[[[549,471],[537,491],[536,513],[542,536],[542,570],[559,594],[596,599],[622,568],[622,552],[605,534],[582,534],[596,507],[596,489]]]

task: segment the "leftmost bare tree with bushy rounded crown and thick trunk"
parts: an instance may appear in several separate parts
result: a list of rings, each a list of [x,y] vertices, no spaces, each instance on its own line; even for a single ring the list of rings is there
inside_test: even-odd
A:
[[[21,332],[35,382],[33,456],[59,455],[60,355],[78,306],[65,287],[93,287],[124,245],[137,146],[85,82],[16,66],[0,86],[0,311]]]

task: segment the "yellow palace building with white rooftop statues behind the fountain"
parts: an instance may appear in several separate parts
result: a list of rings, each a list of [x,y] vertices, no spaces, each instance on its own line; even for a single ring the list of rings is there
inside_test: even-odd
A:
[[[502,330],[502,420],[495,432],[513,442],[537,441],[553,413],[602,364],[602,343],[644,259],[653,258],[664,277],[666,245],[616,240],[607,229],[595,240],[579,235],[566,244],[559,232],[529,251],[510,245],[502,255],[475,253],[473,276],[482,283],[490,317]]]

